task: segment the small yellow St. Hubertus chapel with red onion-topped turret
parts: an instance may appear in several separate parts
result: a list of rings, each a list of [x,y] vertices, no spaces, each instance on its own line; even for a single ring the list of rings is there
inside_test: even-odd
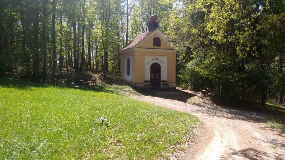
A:
[[[176,88],[176,50],[159,29],[154,12],[148,29],[120,50],[121,79],[139,88]]]

